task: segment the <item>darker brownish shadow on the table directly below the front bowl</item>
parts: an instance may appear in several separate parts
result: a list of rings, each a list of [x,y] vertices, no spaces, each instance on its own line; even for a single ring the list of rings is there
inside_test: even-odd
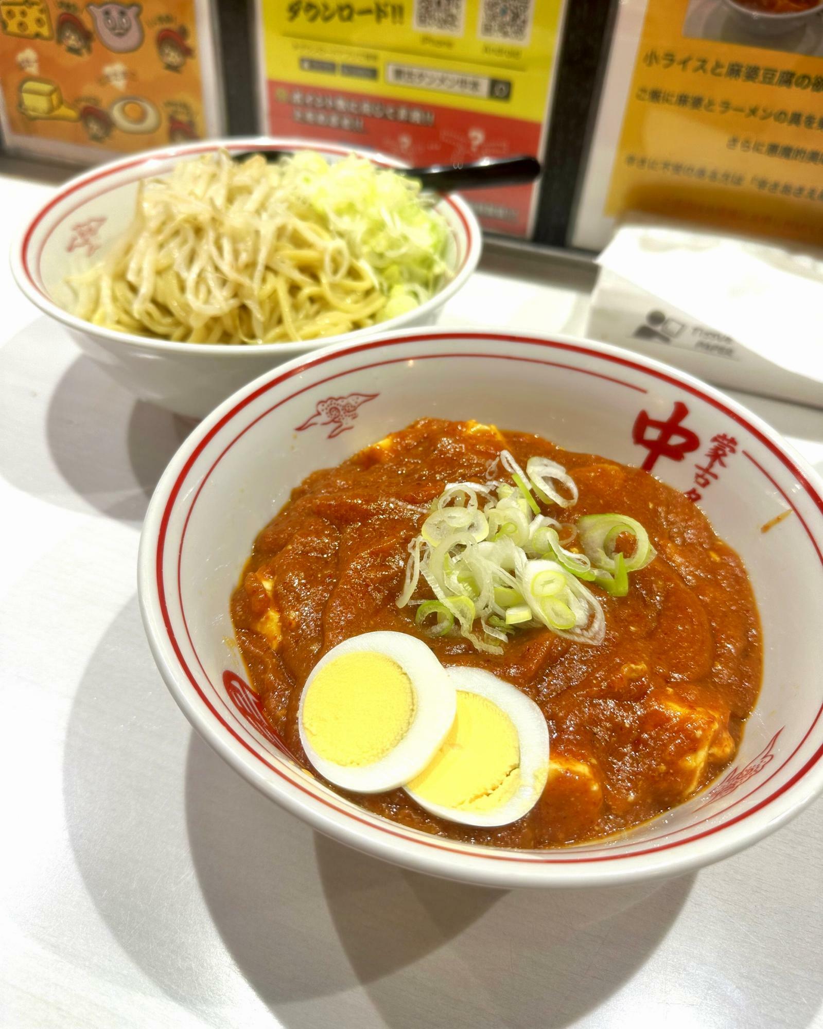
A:
[[[305,827],[284,821],[198,737],[186,812],[214,923],[290,1027],[319,1015],[295,1001],[358,984],[392,1027],[566,1026],[645,962],[694,878],[507,893],[406,872],[319,835],[307,854]],[[607,960],[581,974],[594,950]]]

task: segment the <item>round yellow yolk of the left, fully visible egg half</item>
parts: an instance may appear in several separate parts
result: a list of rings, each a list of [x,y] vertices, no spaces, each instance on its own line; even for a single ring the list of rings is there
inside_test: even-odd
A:
[[[317,753],[346,767],[373,765],[415,720],[412,680],[391,658],[342,654],[320,669],[306,691],[302,722]]]

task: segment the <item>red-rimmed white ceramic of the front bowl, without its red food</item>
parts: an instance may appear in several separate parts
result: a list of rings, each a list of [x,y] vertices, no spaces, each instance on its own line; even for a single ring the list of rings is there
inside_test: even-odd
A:
[[[247,685],[228,613],[256,533],[292,487],[427,415],[537,432],[639,465],[651,458],[634,441],[641,412],[670,425],[670,456],[659,456],[653,471],[684,491],[694,486],[695,465],[706,464],[702,455],[714,436],[736,441],[724,466],[715,465],[717,478],[701,488],[701,505],[746,562],[765,667],[740,752],[712,788],[622,837],[514,851],[454,843],[377,818],[295,765]],[[699,439],[685,459],[677,445],[686,437],[671,416]],[[639,434],[652,439],[658,429],[650,425]],[[193,430],[146,516],[141,609],[157,666],[198,732],[258,789],[320,831],[407,867],[493,886],[669,876],[748,846],[823,788],[821,489],[758,418],[648,358],[574,340],[395,333],[292,361],[240,390]],[[761,532],[787,510],[789,517]]]

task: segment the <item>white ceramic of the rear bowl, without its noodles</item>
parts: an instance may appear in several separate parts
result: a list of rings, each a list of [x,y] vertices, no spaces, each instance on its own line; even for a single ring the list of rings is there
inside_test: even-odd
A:
[[[67,182],[23,228],[11,247],[11,271],[29,299],[63,322],[85,353],[113,379],[143,400],[180,415],[203,418],[215,404],[263,371],[300,354],[324,350],[343,340],[357,342],[409,325],[429,325],[466,283],[480,257],[477,219],[460,197],[442,197],[436,210],[450,227],[446,261],[452,278],[434,296],[407,314],[345,335],[306,343],[259,347],[167,343],[129,332],[100,328],[75,318],[65,278],[100,259],[132,221],[141,179],[162,175],[182,159],[218,148],[319,150],[329,159],[359,153],[378,165],[401,168],[402,162],[353,147],[299,139],[226,139],[150,150],[95,168]]]

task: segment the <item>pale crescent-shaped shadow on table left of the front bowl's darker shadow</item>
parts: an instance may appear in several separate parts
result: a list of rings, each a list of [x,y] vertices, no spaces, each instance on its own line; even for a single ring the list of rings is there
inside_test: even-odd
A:
[[[151,660],[135,596],[100,639],[74,698],[66,825],[111,950],[118,945],[167,994],[203,1010],[221,947],[188,855],[181,784],[189,735]],[[81,914],[70,915],[78,935]],[[122,979],[116,954],[97,955],[96,965],[98,978]]]

